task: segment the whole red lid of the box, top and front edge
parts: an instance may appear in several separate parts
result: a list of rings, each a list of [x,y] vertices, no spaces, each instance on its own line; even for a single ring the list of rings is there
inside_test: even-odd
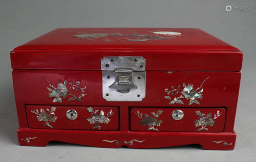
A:
[[[200,29],[62,28],[11,51],[13,69],[100,70],[105,56],[142,56],[146,70],[240,71],[243,53]]]

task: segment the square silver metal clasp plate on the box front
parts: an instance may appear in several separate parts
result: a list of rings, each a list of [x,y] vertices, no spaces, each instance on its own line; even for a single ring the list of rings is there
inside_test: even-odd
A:
[[[142,57],[104,57],[101,60],[102,96],[107,101],[141,101],[146,72]]]

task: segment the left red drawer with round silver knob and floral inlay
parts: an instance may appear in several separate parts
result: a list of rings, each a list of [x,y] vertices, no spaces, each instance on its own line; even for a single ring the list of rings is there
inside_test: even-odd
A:
[[[29,128],[119,129],[119,109],[115,106],[26,105],[26,112]]]

